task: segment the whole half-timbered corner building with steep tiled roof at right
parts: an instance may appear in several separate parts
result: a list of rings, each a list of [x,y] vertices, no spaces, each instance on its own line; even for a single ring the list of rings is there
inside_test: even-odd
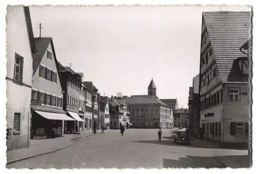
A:
[[[206,139],[223,146],[248,142],[248,57],[240,48],[251,37],[251,16],[203,12],[200,126]]]

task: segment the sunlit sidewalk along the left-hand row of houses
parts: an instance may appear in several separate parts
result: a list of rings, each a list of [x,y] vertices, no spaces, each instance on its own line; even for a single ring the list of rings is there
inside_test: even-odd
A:
[[[101,130],[98,130],[97,134],[101,134]],[[82,132],[80,137],[89,137],[92,135],[95,135],[92,130],[87,130],[86,132]],[[66,148],[72,145],[71,140],[74,138],[79,138],[79,136],[65,134],[63,137],[54,139],[30,140],[28,148],[15,149],[6,152],[7,164]]]

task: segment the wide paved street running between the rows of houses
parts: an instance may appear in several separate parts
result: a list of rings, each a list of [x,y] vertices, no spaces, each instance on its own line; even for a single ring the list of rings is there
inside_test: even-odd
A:
[[[224,167],[213,156],[246,155],[246,150],[196,148],[175,145],[163,130],[161,142],[157,129],[129,129],[123,137],[118,130],[73,141],[55,153],[19,161],[7,168],[163,168]]]

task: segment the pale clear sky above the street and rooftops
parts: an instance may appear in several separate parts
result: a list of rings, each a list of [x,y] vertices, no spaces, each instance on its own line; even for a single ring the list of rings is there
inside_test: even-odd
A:
[[[84,74],[101,95],[147,95],[151,79],[160,99],[187,108],[199,74],[203,11],[219,6],[31,6],[34,36],[52,37],[63,66]],[[249,11],[221,6],[222,11]]]

